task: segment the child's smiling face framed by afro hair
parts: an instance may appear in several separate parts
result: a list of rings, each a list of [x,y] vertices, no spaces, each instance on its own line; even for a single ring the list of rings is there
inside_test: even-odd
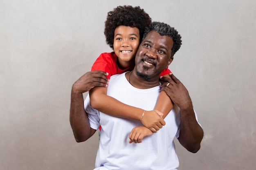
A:
[[[120,25],[115,29],[114,51],[118,57],[119,68],[134,65],[134,58],[139,48],[139,29]]]

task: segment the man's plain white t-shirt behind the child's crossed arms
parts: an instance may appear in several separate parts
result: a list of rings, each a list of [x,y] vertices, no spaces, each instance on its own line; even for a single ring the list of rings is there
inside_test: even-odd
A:
[[[159,86],[133,87],[125,73],[113,75],[108,86],[109,96],[145,110],[154,109],[160,91]],[[91,128],[97,130],[101,125],[95,170],[176,170],[179,166],[173,142],[180,132],[180,113],[176,105],[164,119],[166,125],[157,133],[144,137],[139,144],[128,141],[132,128],[142,126],[140,121],[101,113],[91,107],[89,96],[85,99],[85,110]]]

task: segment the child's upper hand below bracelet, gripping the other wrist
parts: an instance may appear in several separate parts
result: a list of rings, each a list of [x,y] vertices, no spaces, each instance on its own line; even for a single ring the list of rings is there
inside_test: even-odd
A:
[[[157,130],[165,125],[163,115],[164,114],[162,112],[159,112],[158,110],[146,111],[143,118],[141,119],[141,123],[146,128],[156,133]]]

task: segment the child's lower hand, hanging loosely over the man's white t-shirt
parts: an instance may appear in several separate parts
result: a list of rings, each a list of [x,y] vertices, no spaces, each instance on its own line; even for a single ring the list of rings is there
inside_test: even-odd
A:
[[[145,136],[149,136],[152,134],[153,132],[151,132],[151,130],[149,130],[145,126],[139,126],[139,127],[133,128],[129,135],[129,139],[130,139],[129,144],[131,144],[132,142],[134,142],[135,144],[141,143],[142,139]]]

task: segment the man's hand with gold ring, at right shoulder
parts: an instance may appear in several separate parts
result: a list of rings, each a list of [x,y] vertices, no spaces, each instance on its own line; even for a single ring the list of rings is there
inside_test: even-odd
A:
[[[192,104],[186,87],[173,74],[170,75],[170,78],[161,77],[161,79],[165,81],[161,85],[162,91],[166,92],[173,103],[180,108],[186,108]]]

